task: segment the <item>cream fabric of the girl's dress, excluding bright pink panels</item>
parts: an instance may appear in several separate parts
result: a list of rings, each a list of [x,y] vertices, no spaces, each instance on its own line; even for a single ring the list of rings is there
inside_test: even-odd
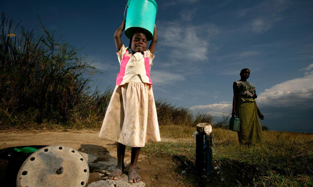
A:
[[[115,86],[99,137],[117,141],[126,146],[143,147],[146,142],[161,141],[152,85],[149,84],[151,83],[151,79],[149,81],[150,67],[147,79],[145,76],[148,75],[148,72],[142,73],[142,67],[145,68],[145,66],[141,64],[145,63],[144,56],[148,53],[151,66],[154,55],[149,50],[145,51],[144,55],[139,52],[131,55],[127,49],[122,46],[121,50],[117,52],[120,63],[123,62],[123,58],[127,56],[130,58],[125,68],[126,76],[123,77],[122,84]],[[129,71],[128,65],[131,71]],[[136,70],[133,65],[139,67],[139,75],[135,73],[128,76],[127,72],[134,73]],[[123,73],[122,68],[121,73]],[[125,77],[131,77],[131,79],[127,78],[126,80]],[[147,83],[147,81],[149,82]]]

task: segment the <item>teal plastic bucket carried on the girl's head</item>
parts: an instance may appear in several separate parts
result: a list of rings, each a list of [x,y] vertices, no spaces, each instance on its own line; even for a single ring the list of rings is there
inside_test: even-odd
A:
[[[155,0],[128,0],[125,35],[131,39],[136,31],[143,32],[147,40],[152,40],[156,21],[157,4]]]

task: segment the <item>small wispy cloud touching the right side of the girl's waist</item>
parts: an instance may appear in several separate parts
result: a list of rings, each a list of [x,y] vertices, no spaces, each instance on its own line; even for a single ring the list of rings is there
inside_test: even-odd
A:
[[[173,84],[175,81],[184,81],[185,77],[181,74],[173,74],[166,71],[151,72],[151,80],[153,84]]]

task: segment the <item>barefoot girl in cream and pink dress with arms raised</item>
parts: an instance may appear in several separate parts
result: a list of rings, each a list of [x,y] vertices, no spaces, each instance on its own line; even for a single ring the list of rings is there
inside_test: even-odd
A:
[[[136,183],[141,180],[136,170],[140,148],[145,146],[145,142],[161,141],[150,79],[157,32],[154,25],[153,39],[148,50],[146,35],[135,32],[129,44],[131,54],[121,41],[124,29],[125,20],[114,34],[121,70],[117,74],[116,86],[99,137],[117,141],[117,165],[109,175],[112,180],[118,180],[123,173],[125,147],[132,147],[128,180],[129,183]]]

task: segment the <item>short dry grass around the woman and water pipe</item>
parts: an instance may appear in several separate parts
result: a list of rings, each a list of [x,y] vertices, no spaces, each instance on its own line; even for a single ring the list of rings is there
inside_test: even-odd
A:
[[[195,130],[173,125],[160,127],[163,136],[185,139],[190,139]],[[227,129],[213,128],[213,134],[213,166],[219,163],[221,167],[236,169],[238,181],[242,180],[237,186],[313,185],[313,134],[263,131],[264,142],[254,146],[240,145],[237,133]],[[194,142],[195,138],[190,151],[188,141],[162,141],[147,143],[142,152],[149,157],[156,154],[178,156],[181,162],[187,157],[194,164]],[[229,177],[227,171],[224,175],[224,178]]]

